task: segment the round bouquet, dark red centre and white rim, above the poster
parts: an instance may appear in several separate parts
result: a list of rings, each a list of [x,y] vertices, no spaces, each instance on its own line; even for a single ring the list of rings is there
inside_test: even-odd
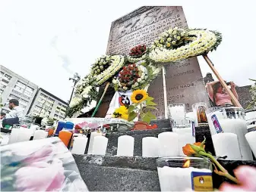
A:
[[[129,64],[119,72],[119,76],[112,80],[115,90],[136,90],[148,79],[147,68],[136,63]]]

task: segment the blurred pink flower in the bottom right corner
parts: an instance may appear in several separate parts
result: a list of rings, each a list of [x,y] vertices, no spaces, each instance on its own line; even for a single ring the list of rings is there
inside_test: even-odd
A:
[[[239,166],[234,171],[239,185],[223,183],[220,186],[222,191],[256,191],[256,168],[251,166]]]

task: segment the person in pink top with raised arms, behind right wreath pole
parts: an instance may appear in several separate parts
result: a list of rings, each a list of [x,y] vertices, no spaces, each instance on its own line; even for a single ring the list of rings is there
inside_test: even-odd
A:
[[[230,85],[230,90],[235,95],[235,98],[239,99],[239,95],[235,91],[235,83],[229,82],[227,85]],[[233,106],[229,94],[226,93],[225,88],[223,88],[223,85],[221,85],[219,81],[208,82],[206,87],[210,100],[213,101],[213,104],[215,104],[216,107]]]

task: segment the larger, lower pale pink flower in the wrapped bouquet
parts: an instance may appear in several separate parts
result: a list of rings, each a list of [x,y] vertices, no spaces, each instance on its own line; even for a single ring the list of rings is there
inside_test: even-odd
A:
[[[52,163],[37,162],[15,172],[17,191],[59,190],[65,181],[64,168],[60,159]]]

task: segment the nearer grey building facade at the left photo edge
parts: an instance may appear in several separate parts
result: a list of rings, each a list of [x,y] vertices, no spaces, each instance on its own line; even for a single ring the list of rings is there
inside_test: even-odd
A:
[[[26,115],[36,95],[38,86],[2,65],[0,70],[0,95],[4,105],[2,112],[9,113],[8,101],[14,98],[19,101],[20,107],[24,109],[24,115]]]

